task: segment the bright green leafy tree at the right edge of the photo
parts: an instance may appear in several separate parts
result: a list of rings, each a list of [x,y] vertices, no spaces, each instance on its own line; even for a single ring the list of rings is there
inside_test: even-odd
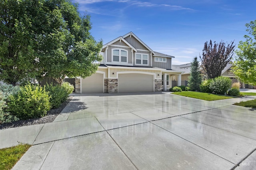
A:
[[[240,41],[232,71],[243,82],[256,86],[256,20],[246,24],[245,41]]]

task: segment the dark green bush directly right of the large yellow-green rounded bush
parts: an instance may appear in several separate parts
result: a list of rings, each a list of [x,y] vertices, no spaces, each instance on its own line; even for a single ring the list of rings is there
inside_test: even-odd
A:
[[[53,86],[52,84],[46,85],[45,90],[49,92],[50,103],[52,108],[58,108],[66,100],[67,93],[64,88],[61,88],[59,85]]]

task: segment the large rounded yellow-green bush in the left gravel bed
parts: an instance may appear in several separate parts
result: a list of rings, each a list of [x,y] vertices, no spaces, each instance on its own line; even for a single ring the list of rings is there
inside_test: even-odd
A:
[[[30,84],[20,87],[17,94],[10,95],[7,104],[7,111],[20,119],[43,117],[51,107],[48,92]]]

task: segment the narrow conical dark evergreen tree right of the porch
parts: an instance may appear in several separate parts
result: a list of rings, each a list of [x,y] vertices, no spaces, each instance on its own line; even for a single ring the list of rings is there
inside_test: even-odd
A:
[[[202,76],[199,71],[199,61],[195,57],[191,63],[190,76],[188,77],[188,87],[192,91],[199,91],[202,83]]]

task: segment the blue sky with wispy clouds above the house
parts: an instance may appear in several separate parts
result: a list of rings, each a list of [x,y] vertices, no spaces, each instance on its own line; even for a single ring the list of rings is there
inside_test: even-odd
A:
[[[172,64],[199,58],[206,41],[236,46],[256,20],[256,0],[73,0],[90,14],[92,36],[108,43],[132,31],[152,50],[175,56]]]

